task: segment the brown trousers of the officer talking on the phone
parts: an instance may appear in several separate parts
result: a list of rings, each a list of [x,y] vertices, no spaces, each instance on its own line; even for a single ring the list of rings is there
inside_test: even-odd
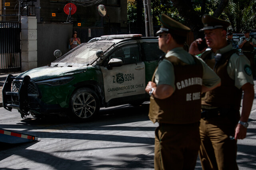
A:
[[[199,156],[203,170],[238,170],[236,163],[235,123],[228,117],[200,120]]]

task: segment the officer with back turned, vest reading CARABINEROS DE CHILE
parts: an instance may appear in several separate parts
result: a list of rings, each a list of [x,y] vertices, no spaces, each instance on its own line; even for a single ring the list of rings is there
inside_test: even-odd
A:
[[[220,85],[220,78],[202,60],[183,49],[190,28],[162,14],[159,48],[166,53],[146,92],[155,131],[155,170],[194,170],[200,146],[201,92]]]

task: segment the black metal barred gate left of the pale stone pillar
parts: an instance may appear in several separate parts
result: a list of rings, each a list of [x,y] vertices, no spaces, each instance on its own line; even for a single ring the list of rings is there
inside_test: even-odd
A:
[[[0,72],[21,70],[20,23],[0,21]]]

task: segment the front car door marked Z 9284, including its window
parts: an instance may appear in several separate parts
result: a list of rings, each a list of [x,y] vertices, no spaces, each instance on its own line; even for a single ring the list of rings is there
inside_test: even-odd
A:
[[[120,59],[123,64],[108,68],[110,59]],[[145,64],[141,61],[138,44],[118,47],[100,66],[104,81],[106,103],[114,101],[115,105],[145,98]],[[136,96],[136,98],[134,98]]]

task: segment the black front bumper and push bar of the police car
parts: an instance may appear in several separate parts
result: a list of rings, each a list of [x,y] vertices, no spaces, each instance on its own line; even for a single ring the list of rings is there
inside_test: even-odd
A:
[[[8,111],[18,109],[22,118],[29,114],[41,115],[42,113],[60,111],[59,105],[46,105],[42,102],[36,83],[30,76],[17,78],[9,74],[2,89],[3,107]]]

